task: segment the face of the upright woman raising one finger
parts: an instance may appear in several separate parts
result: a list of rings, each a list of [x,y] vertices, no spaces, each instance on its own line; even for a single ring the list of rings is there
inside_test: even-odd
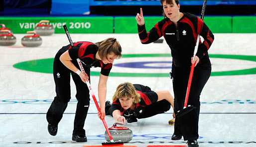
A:
[[[163,1],[163,11],[165,15],[172,20],[175,17],[179,17],[180,4],[176,4],[175,0],[172,0],[173,4],[167,4],[166,0]]]

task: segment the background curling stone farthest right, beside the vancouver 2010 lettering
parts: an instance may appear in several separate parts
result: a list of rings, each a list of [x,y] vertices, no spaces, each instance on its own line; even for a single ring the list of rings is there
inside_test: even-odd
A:
[[[41,20],[38,25],[34,28],[34,31],[40,36],[49,36],[54,33],[54,28],[50,24],[42,24],[48,23],[49,20]]]

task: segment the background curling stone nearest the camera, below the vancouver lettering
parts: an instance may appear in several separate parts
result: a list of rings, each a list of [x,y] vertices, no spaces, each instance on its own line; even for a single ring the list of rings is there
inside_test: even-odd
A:
[[[24,47],[38,47],[42,44],[42,39],[39,35],[35,33],[35,31],[27,31],[27,34],[34,34],[24,36],[21,39],[21,44]]]

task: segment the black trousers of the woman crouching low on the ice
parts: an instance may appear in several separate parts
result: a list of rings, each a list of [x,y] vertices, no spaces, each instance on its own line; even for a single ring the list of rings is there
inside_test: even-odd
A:
[[[164,113],[164,112],[168,111],[170,109],[170,107],[171,107],[171,104],[166,99],[163,99],[163,100],[154,102],[152,104],[146,105],[144,112],[142,114],[137,115],[136,117],[134,115],[133,116],[134,116],[134,118],[138,118],[138,119],[148,118],[148,117],[154,116],[156,114]],[[112,115],[113,109],[111,108],[111,106],[106,106],[105,112],[106,112],[106,115],[113,116]]]

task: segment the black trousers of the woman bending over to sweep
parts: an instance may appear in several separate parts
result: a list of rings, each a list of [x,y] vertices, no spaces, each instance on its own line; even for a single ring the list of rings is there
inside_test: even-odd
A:
[[[70,73],[72,79],[76,85],[76,98],[77,108],[74,120],[74,130],[73,135],[85,135],[84,123],[87,116],[87,112],[90,105],[90,95],[87,85],[81,80],[79,75],[69,70],[65,65],[59,60],[58,53],[54,58],[53,63],[53,77],[56,86],[56,97],[51,103],[50,108],[46,114],[46,118],[49,124],[58,125],[63,113],[68,105],[70,96]],[[78,69],[78,64],[76,65]],[[85,68],[85,72],[90,79],[90,68]]]

